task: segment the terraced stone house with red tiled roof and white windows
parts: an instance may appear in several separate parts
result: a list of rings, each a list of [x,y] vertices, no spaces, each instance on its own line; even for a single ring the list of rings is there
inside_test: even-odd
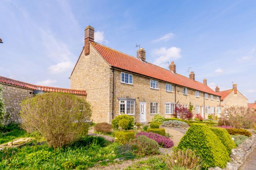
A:
[[[193,105],[193,113],[207,118],[220,114],[220,95],[203,83],[146,61],[140,48],[133,57],[94,42],[94,28],[85,28],[84,47],[70,76],[71,89],[86,90],[94,122],[108,122],[120,114],[136,122],[151,121],[155,114],[172,117],[174,108]]]

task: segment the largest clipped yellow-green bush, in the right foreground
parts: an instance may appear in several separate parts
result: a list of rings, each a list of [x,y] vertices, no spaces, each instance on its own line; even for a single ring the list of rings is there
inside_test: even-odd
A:
[[[191,124],[178,144],[178,148],[195,151],[196,155],[202,159],[204,169],[216,166],[223,168],[227,161],[230,161],[226,147],[207,125]]]

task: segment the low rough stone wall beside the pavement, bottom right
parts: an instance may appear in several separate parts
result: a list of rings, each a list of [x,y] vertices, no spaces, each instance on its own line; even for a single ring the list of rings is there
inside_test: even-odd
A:
[[[230,154],[231,162],[227,163],[224,169],[220,167],[209,168],[208,170],[238,170],[238,168],[245,162],[248,155],[253,151],[256,146],[256,135],[252,135],[243,143],[239,144],[232,150]]]

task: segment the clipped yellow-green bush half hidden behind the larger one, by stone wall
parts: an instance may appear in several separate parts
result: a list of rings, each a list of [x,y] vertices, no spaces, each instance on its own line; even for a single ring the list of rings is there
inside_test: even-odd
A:
[[[222,144],[226,147],[227,152],[231,154],[231,150],[236,147],[236,144],[231,139],[229,133],[225,129],[217,127],[210,127],[210,130],[218,136],[219,140],[221,140]]]

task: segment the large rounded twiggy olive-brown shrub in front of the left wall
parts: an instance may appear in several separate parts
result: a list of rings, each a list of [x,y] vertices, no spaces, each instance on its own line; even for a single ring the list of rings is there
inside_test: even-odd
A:
[[[61,92],[38,94],[20,104],[21,127],[38,131],[53,148],[62,147],[87,135],[91,105],[75,95]]]

